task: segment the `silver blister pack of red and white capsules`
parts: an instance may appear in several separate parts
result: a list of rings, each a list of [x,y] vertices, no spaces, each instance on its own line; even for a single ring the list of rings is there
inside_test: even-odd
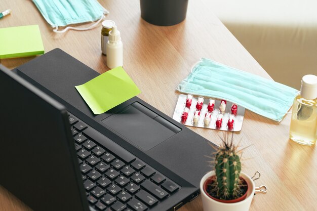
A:
[[[241,131],[245,108],[229,101],[180,95],[173,119],[199,128]]]

